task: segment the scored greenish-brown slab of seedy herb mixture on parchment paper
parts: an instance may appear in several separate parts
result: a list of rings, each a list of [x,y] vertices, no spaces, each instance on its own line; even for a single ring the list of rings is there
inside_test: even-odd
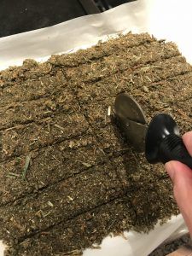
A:
[[[64,44],[64,43],[63,43]],[[127,34],[0,72],[0,238],[6,255],[80,255],[111,232],[177,214],[164,166],[121,136],[115,96],[191,130],[192,67],[177,46]]]

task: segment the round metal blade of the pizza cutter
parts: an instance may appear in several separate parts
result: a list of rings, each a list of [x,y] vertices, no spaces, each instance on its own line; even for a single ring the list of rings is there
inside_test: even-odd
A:
[[[125,137],[138,152],[143,152],[148,129],[143,109],[131,96],[121,93],[115,99],[114,112]]]

